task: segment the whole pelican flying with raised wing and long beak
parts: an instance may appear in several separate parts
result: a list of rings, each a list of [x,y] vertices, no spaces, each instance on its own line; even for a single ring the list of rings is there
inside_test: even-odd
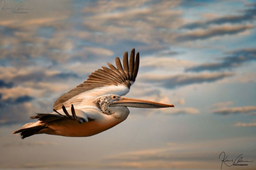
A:
[[[129,92],[139,69],[139,53],[132,49],[123,56],[123,66],[116,58],[116,67],[108,63],[91,73],[89,78],[68,93],[60,96],[52,113],[38,113],[30,119],[38,119],[23,125],[13,133],[22,139],[35,134],[69,137],[96,135],[124,121],[129,115],[127,107],[166,108],[173,104],[121,97]]]

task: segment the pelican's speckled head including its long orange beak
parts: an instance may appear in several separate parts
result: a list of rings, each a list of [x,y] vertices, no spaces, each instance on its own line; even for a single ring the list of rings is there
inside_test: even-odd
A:
[[[121,97],[116,94],[100,96],[95,100],[98,108],[106,115],[112,115],[116,107],[136,107],[136,108],[166,108],[174,107],[173,104],[162,104],[154,101],[140,100],[136,98]]]

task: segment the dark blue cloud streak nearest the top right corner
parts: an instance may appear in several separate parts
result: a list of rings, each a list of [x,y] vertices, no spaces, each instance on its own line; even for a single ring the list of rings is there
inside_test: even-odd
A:
[[[225,23],[230,24],[237,24],[237,23],[244,23],[244,22],[252,22],[256,15],[256,4],[251,5],[251,8],[248,8],[242,13],[242,15],[229,15],[229,16],[222,16],[219,18],[214,18],[208,20],[206,22],[193,22],[188,23],[182,26],[181,28],[185,29],[196,29],[196,28],[207,28],[212,24],[220,25]]]

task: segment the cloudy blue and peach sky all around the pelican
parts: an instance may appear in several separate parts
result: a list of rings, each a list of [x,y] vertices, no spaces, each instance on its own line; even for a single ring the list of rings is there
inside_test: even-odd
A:
[[[0,0],[0,169],[256,167],[256,2]],[[16,7],[16,8],[15,8]],[[85,138],[12,134],[125,51],[140,52],[129,108]]]

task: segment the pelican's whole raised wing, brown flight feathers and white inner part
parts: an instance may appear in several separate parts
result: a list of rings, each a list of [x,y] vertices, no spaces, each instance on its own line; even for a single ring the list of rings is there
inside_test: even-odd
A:
[[[91,73],[89,78],[68,93],[61,95],[54,103],[53,109],[60,110],[63,105],[81,105],[85,100],[96,98],[105,94],[117,94],[123,96],[129,92],[130,86],[135,81],[139,69],[139,53],[132,49],[129,62],[128,52],[124,53],[123,66],[119,57],[116,58],[116,67],[108,63],[108,67],[102,66]]]

